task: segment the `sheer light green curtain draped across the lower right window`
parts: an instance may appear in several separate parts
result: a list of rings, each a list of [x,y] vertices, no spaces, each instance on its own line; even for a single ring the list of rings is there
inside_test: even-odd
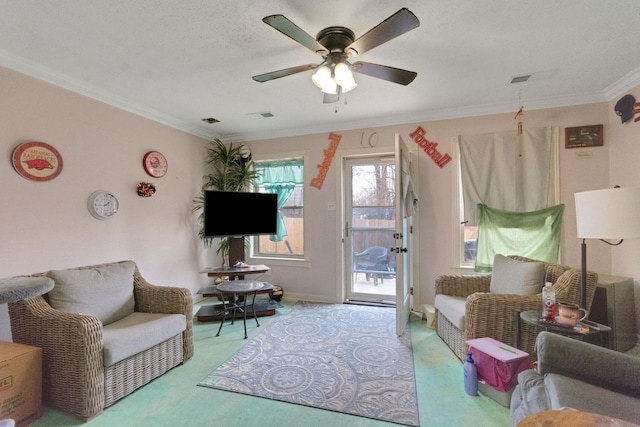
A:
[[[489,271],[496,254],[557,262],[564,205],[533,212],[510,212],[478,204],[480,221],[476,271]]]

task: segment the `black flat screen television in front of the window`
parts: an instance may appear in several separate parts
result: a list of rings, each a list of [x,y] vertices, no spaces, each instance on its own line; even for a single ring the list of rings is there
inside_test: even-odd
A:
[[[277,194],[204,192],[205,237],[276,234],[277,224]]]

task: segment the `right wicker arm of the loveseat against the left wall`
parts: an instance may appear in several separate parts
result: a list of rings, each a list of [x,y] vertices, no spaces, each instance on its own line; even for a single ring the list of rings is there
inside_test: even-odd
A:
[[[193,356],[193,297],[186,288],[157,286],[147,282],[136,271],[133,275],[136,311],[143,313],[184,314],[187,328],[182,334],[183,357]]]

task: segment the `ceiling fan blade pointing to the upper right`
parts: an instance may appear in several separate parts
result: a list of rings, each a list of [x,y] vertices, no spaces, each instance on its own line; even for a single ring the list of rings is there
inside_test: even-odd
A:
[[[349,56],[361,55],[419,26],[418,18],[404,7],[360,36],[344,52]]]

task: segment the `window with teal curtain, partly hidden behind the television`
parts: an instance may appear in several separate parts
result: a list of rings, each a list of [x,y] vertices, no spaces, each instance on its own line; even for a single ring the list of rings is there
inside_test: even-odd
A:
[[[251,239],[251,256],[304,259],[304,158],[254,160],[256,191],[278,195],[278,233]]]

